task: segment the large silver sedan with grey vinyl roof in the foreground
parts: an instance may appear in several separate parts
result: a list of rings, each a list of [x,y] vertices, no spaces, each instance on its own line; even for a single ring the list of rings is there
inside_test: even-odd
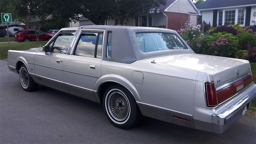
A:
[[[9,50],[8,68],[26,91],[42,84],[102,103],[124,129],[144,115],[222,133],[256,98],[247,60],[195,54],[163,28],[63,28],[43,48]]]

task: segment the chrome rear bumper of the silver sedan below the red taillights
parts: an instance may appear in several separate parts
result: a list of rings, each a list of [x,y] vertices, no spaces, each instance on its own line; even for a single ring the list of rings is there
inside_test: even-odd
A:
[[[215,133],[221,134],[226,131],[232,124],[242,117],[243,110],[250,103],[256,99],[256,87],[254,87],[248,94],[232,104],[229,108],[220,114],[212,115],[212,130]]]

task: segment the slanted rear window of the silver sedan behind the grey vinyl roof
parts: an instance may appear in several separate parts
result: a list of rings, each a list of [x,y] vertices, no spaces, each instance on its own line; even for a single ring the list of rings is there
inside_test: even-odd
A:
[[[175,34],[137,33],[136,37],[142,52],[188,49]]]

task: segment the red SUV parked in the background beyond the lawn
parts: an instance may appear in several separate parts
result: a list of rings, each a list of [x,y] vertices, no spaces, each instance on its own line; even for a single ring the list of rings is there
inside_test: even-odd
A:
[[[53,34],[46,34],[40,30],[37,30],[39,40],[50,40]],[[14,35],[15,42],[29,42],[36,40],[35,30],[21,30]]]

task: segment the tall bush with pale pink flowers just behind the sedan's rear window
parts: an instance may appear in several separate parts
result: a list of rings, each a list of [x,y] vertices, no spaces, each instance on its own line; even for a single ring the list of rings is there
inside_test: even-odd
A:
[[[204,37],[204,32],[201,30],[201,25],[193,26],[186,23],[180,30],[177,31],[186,43],[196,52],[202,54],[201,42]]]

